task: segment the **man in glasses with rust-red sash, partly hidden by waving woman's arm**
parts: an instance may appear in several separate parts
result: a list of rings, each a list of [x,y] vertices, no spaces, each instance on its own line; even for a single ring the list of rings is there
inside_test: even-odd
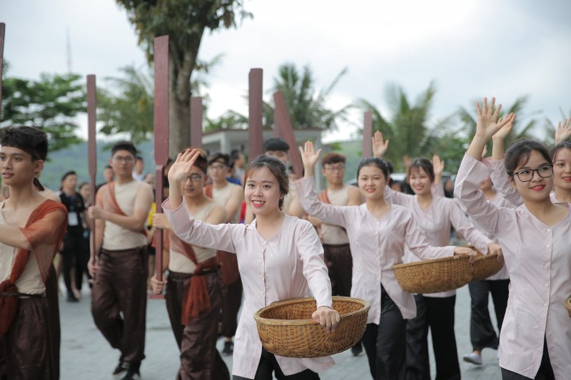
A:
[[[226,210],[203,192],[207,165],[204,155],[197,155],[179,191],[196,220],[223,223]],[[155,275],[151,287],[160,294],[166,283],[166,309],[181,350],[176,379],[228,380],[230,373],[216,349],[223,287],[216,250],[183,242],[164,214],[153,215],[153,225],[168,230],[169,243],[163,255],[168,279],[161,282]]]

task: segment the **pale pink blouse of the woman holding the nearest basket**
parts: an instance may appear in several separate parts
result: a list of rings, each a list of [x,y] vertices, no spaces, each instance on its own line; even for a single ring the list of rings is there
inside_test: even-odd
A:
[[[181,240],[236,252],[245,297],[234,342],[232,374],[253,379],[262,354],[253,319],[258,309],[311,294],[318,307],[331,307],[331,284],[317,232],[307,220],[285,215],[280,230],[265,240],[256,230],[256,220],[251,225],[209,225],[194,220],[184,201],[176,210],[169,206],[168,200],[163,202],[163,210]],[[335,364],[330,356],[294,359],[276,355],[276,360],[285,375],[305,369],[320,372]]]

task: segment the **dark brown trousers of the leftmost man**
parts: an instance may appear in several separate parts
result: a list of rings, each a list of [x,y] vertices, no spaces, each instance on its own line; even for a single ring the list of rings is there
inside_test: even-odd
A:
[[[58,379],[51,347],[48,300],[44,297],[21,298],[14,322],[0,338],[0,356],[6,361],[5,379]]]

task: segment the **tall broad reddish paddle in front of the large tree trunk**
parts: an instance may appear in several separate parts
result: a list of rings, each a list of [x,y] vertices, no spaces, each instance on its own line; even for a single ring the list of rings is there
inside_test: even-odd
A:
[[[168,161],[168,36],[154,41],[155,52],[155,202],[156,212],[163,212],[164,171]],[[163,230],[155,232],[155,274],[163,280]],[[163,294],[151,294],[151,299],[164,299]]]

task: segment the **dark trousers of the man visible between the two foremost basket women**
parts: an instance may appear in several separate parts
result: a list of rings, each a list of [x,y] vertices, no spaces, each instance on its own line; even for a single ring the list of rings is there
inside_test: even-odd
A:
[[[334,296],[350,297],[353,258],[348,244],[323,245],[325,264],[329,270],[331,291]]]

